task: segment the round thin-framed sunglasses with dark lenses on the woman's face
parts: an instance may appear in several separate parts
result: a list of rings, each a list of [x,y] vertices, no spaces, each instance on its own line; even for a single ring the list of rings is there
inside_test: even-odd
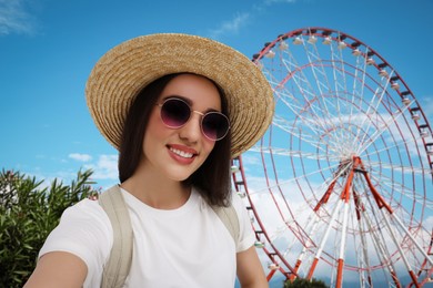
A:
[[[201,113],[191,109],[190,104],[179,97],[169,97],[163,103],[157,104],[161,107],[161,120],[169,128],[180,128],[188,123],[192,113],[201,115],[200,127],[203,135],[211,141],[219,141],[225,137],[230,130],[229,119],[215,111]]]

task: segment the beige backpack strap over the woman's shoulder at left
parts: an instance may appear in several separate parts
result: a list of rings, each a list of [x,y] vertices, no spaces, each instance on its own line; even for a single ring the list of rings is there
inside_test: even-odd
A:
[[[99,195],[99,204],[109,216],[113,228],[113,246],[103,268],[101,287],[123,287],[131,268],[133,234],[120,187],[112,186]]]

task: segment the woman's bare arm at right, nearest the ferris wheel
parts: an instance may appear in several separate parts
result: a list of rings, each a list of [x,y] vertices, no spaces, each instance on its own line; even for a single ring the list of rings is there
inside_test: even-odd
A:
[[[269,287],[262,264],[260,263],[254,246],[251,246],[245,251],[238,253],[236,263],[236,274],[242,288]]]

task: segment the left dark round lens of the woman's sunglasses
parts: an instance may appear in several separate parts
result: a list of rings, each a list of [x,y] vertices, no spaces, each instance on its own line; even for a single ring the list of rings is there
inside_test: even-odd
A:
[[[164,102],[161,109],[161,119],[172,128],[178,128],[190,119],[190,107],[181,100],[170,99]]]

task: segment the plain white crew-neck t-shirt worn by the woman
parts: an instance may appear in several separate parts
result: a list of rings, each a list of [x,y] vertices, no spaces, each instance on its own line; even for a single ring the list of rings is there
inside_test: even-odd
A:
[[[240,197],[232,197],[240,222],[240,241],[235,247],[224,224],[195,189],[182,207],[172,210],[152,208],[121,191],[134,234],[132,265],[124,287],[234,286],[235,254],[254,243]],[[39,257],[49,251],[74,254],[88,266],[83,287],[100,287],[112,238],[110,219],[98,200],[83,199],[64,210]]]

